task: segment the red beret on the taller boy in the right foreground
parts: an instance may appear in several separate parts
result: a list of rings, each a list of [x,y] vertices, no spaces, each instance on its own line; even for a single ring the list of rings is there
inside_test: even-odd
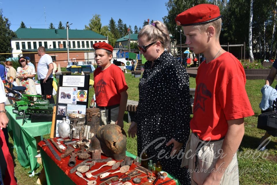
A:
[[[190,26],[209,23],[222,17],[218,6],[212,4],[196,5],[180,13],[175,18],[177,25]]]

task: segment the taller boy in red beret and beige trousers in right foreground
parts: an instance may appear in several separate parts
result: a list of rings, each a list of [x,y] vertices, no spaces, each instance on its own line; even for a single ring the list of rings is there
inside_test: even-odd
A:
[[[192,134],[182,167],[189,169],[192,184],[239,184],[236,152],[244,135],[244,117],[254,114],[244,69],[220,46],[218,6],[196,5],[175,21],[183,26],[190,50],[206,58],[197,71]]]

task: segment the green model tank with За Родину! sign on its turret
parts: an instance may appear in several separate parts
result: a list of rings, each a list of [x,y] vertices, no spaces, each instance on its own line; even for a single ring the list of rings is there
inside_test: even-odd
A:
[[[53,114],[53,106],[55,104],[50,104],[49,100],[39,99],[34,102],[34,105],[29,106],[25,110],[29,114]]]

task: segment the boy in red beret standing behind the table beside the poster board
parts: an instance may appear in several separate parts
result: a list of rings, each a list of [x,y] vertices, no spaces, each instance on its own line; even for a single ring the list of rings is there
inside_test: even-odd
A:
[[[96,103],[100,108],[100,124],[117,124],[123,128],[123,115],[126,109],[128,86],[121,69],[111,64],[113,47],[106,42],[93,44],[98,68],[94,71]]]

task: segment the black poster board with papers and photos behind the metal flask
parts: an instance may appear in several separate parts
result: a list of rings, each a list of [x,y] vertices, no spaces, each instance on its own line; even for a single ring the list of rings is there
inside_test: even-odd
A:
[[[59,137],[58,126],[71,113],[86,114],[89,103],[90,75],[60,75],[57,94],[57,110],[54,137]]]

